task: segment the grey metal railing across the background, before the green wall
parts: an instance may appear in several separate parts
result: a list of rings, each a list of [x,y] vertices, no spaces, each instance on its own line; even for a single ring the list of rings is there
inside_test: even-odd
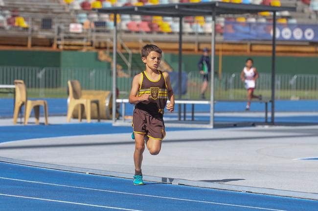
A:
[[[131,75],[127,70],[118,72],[117,88],[120,93],[129,93],[133,77],[139,72],[133,70]],[[199,72],[190,72],[187,77],[187,92],[182,97],[199,99],[203,76]],[[24,80],[28,95],[34,97],[66,97],[69,79],[79,80],[82,89],[112,89],[112,71],[107,69],[0,66],[0,84],[13,84],[15,79]],[[240,73],[216,76],[214,84],[216,100],[246,99],[247,92]],[[275,87],[276,99],[318,99],[318,75],[277,74]],[[271,74],[259,74],[255,94],[267,99],[271,97]],[[208,86],[205,96],[208,98],[209,95]]]

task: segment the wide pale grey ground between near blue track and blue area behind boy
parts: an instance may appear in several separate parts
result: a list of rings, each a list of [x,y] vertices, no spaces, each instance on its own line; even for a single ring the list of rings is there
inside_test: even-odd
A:
[[[134,173],[131,134],[30,139],[0,144],[0,156]],[[258,126],[168,132],[144,174],[318,193],[318,126]]]

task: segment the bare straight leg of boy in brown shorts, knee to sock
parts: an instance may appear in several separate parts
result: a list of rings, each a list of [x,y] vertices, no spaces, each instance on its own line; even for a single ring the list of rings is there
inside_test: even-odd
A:
[[[145,134],[135,133],[135,152],[134,152],[134,162],[135,162],[135,171],[141,173],[141,162],[142,162],[142,153],[145,150],[144,142]]]

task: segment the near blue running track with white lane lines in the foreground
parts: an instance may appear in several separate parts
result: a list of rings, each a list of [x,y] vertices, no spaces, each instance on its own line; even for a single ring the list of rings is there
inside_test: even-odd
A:
[[[317,211],[318,201],[0,162],[0,211]]]

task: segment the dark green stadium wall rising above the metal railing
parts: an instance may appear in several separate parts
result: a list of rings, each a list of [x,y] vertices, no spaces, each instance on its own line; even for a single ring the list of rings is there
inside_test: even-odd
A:
[[[137,57],[139,58],[140,55]],[[183,55],[182,68],[186,72],[197,71],[197,63],[200,57],[201,55]],[[246,58],[249,57],[254,59],[254,65],[259,72],[271,72],[270,56],[242,55],[224,55],[222,57],[222,72],[241,72]],[[100,61],[98,59],[97,52],[1,50],[0,58],[0,66],[111,69],[111,64],[109,62]],[[165,53],[164,59],[174,70],[178,70],[177,54]],[[219,70],[219,56],[216,56],[215,61],[215,70]],[[277,56],[276,71],[280,74],[318,74],[316,67],[318,67],[317,57]],[[136,68],[140,67],[138,66]]]

